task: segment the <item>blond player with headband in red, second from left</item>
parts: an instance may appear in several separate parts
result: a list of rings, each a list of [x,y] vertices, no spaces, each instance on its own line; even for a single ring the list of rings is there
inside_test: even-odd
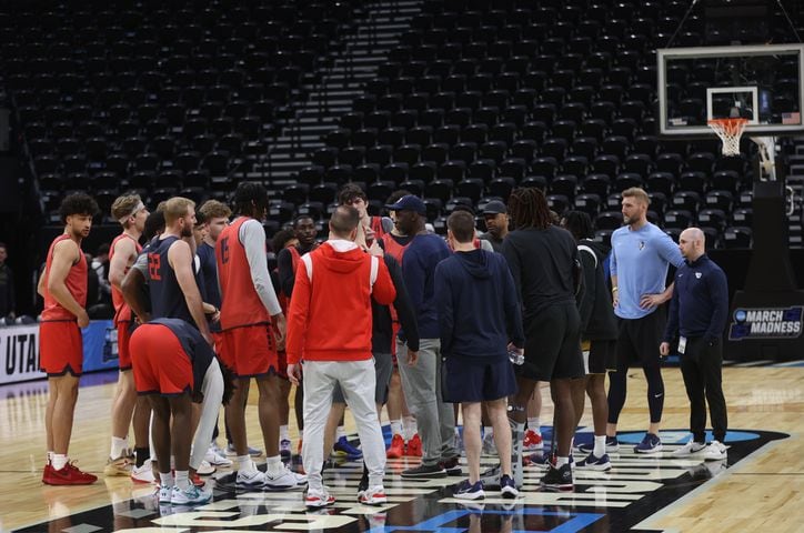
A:
[[[147,399],[137,396],[134,378],[131,373],[131,352],[129,339],[133,331],[133,316],[131,308],[123,300],[120,283],[137,260],[142,250],[140,237],[148,220],[148,209],[139,194],[125,194],[114,200],[111,214],[123,228],[123,232],[114,238],[109,247],[109,283],[112,288],[112,303],[114,304],[114,326],[118,331],[118,355],[120,359],[120,375],[112,401],[112,438],[111,451],[105,475],[131,475],[137,482],[152,483],[153,473],[150,461],[151,451],[148,444],[148,428],[151,418],[151,408]],[[132,420],[133,419],[133,420]],[[133,469],[128,457],[129,425],[133,421],[135,463]]]

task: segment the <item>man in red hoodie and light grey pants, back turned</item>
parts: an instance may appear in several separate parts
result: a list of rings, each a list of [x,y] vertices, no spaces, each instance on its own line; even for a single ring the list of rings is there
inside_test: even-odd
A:
[[[369,487],[358,494],[364,504],[386,502],[382,486],[385,445],[374,405],[374,362],[371,354],[371,299],[388,305],[396,298],[391,276],[379,258],[358,248],[360,214],[341,205],[330,219],[329,240],[302,257],[288,318],[288,375],[301,378],[304,353],[304,442],[309,507],[332,504],[321,481],[324,424],[332,390],[340,383],[358,425]],[[302,268],[303,265],[303,268]],[[314,324],[314,325],[313,325]]]

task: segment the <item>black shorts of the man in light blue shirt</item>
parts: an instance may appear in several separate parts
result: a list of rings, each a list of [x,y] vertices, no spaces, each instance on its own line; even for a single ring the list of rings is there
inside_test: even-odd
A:
[[[664,308],[641,319],[617,319],[617,369],[627,369],[634,362],[642,368],[661,364],[659,345],[665,325]]]

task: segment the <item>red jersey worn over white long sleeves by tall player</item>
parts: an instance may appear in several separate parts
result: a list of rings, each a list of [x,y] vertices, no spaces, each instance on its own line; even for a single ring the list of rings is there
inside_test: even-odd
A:
[[[249,220],[240,217],[223,229],[215,243],[218,281],[221,284],[221,330],[271,322],[271,315],[251,280],[245,247],[240,242],[240,228]]]

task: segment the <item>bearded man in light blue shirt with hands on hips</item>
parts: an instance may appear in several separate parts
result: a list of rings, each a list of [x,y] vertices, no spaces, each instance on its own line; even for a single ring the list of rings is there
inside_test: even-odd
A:
[[[664,408],[659,345],[664,333],[662,304],[673,296],[673,284],[665,288],[667,269],[684,264],[679,247],[659,227],[647,221],[651,199],[640,188],[625,189],[622,211],[625,227],[612,233],[611,280],[614,314],[619,321],[617,369],[609,374],[609,424],[606,447],[616,451],[617,420],[625,404],[629,365],[636,360],[647,381],[650,425],[634,451],[662,450],[659,428]]]

